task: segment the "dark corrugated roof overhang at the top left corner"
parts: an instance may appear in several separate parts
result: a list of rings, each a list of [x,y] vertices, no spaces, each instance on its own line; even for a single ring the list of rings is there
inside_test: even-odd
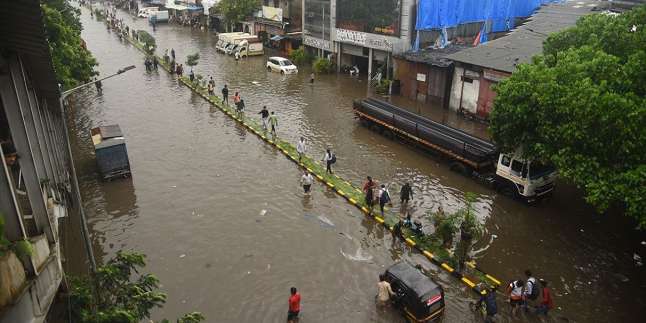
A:
[[[22,54],[36,93],[57,106],[61,92],[38,0],[0,1],[0,48]]]

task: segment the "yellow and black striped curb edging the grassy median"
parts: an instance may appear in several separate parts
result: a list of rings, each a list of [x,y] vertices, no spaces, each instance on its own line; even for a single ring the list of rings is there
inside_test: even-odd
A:
[[[102,19],[102,20],[103,20],[103,19]],[[105,20],[103,20],[103,21],[105,22]],[[132,37],[127,36],[127,39],[128,39],[131,43],[133,43],[134,45],[137,45],[137,43],[138,43],[138,41],[136,41],[136,39],[132,39]],[[137,47],[139,50],[143,51],[143,52],[144,52],[144,54],[146,54],[146,53],[145,53],[145,50],[143,50],[142,48],[140,48],[140,47],[138,47],[138,46],[136,46],[136,47]],[[160,61],[160,63],[161,63],[161,61]],[[165,68],[165,70],[167,70],[168,72],[171,72],[171,70],[169,69],[169,67],[167,67],[166,65],[162,65],[162,64],[160,64],[160,65],[161,65],[163,68]],[[251,125],[249,125],[247,122],[245,122],[244,120],[242,120],[242,119],[238,118],[238,116],[236,115],[236,113],[235,113],[235,112],[231,112],[230,110],[225,109],[224,107],[222,107],[222,105],[218,104],[218,103],[213,99],[213,97],[211,97],[211,96],[207,96],[207,95],[203,94],[203,93],[202,93],[202,91],[200,91],[200,90],[196,89],[193,85],[191,85],[191,84],[187,83],[186,81],[184,81],[184,79],[183,79],[183,78],[178,78],[178,80],[179,80],[179,81],[181,81],[184,85],[186,85],[186,86],[187,86],[187,87],[189,87],[190,89],[194,90],[194,92],[196,92],[197,94],[199,94],[200,96],[202,96],[202,98],[204,98],[204,99],[206,99],[207,101],[211,102],[211,104],[213,104],[215,107],[217,107],[218,109],[222,110],[222,112],[224,112],[225,114],[227,114],[227,116],[230,116],[233,120],[235,120],[235,121],[237,121],[238,123],[241,123],[242,125],[244,125],[244,127],[246,127],[247,129],[249,129],[249,131],[251,131],[253,134],[256,134],[256,136],[258,136],[260,139],[262,139],[262,140],[266,141],[267,143],[269,143],[269,145],[272,145],[273,147],[275,147],[276,149],[278,149],[278,151],[282,152],[282,154],[284,154],[284,155],[285,155],[287,158],[289,158],[291,161],[294,161],[295,163],[297,163],[300,167],[302,167],[302,169],[307,169],[307,171],[309,171],[309,172],[311,172],[311,174],[315,175],[315,176],[316,176],[316,178],[317,178],[320,182],[322,182],[322,183],[326,184],[329,188],[333,189],[333,191],[335,191],[335,193],[339,194],[339,196],[341,196],[342,198],[346,199],[350,204],[352,204],[352,205],[354,205],[355,207],[357,207],[357,209],[359,209],[359,211],[361,211],[362,213],[367,214],[367,215],[369,215],[369,216],[370,216],[370,211],[369,211],[366,207],[364,207],[363,205],[361,205],[361,204],[360,204],[360,202],[358,202],[358,201],[357,201],[357,200],[355,200],[354,198],[349,197],[349,196],[348,196],[348,194],[346,194],[344,191],[342,191],[341,189],[339,189],[339,187],[337,187],[337,186],[336,186],[336,185],[334,185],[333,183],[331,183],[331,182],[329,182],[328,180],[326,180],[326,178],[324,178],[324,177],[323,177],[323,176],[321,176],[320,174],[317,174],[313,169],[308,168],[306,165],[304,165],[304,163],[299,163],[299,162],[298,162],[298,156],[293,156],[293,155],[289,154],[289,152],[288,152],[286,149],[284,149],[284,148],[280,147],[280,145],[279,145],[278,143],[276,143],[276,141],[275,141],[275,140],[272,140],[271,138],[269,138],[269,137],[265,136],[264,134],[262,134],[260,131],[258,131],[258,130],[256,130],[256,129],[254,129],[253,127],[251,127]],[[253,120],[253,119],[251,119],[251,118],[249,118],[249,119],[250,119],[251,121],[255,122],[255,120]],[[375,120],[375,121],[378,121],[378,120]],[[380,121],[378,121],[378,122],[380,122]],[[258,125],[258,123],[256,123],[256,125]],[[305,155],[305,157],[306,157],[306,158],[310,158],[310,157],[309,157],[309,156],[307,156],[307,155]],[[311,159],[311,158],[310,158],[310,159]],[[318,163],[318,161],[314,161],[314,163],[317,163],[318,165],[320,165],[320,163]],[[339,180],[342,180],[342,178],[340,178],[337,174],[333,174],[333,176],[335,176],[335,177],[336,177],[336,178],[338,178]],[[349,187],[352,187],[351,183],[349,183],[349,182],[347,182],[347,181],[344,181],[344,183],[346,183],[346,185],[348,185]],[[353,188],[354,188],[354,187],[353,187]],[[358,191],[359,193],[363,193],[362,191],[360,191],[360,190],[359,190],[359,189],[357,189],[357,188],[354,188],[354,189],[355,189],[356,191]],[[387,208],[387,207],[384,207],[384,209],[388,210],[388,208]],[[396,215],[396,214],[395,214],[395,215]],[[389,224],[388,224],[388,223],[387,223],[383,218],[380,218],[379,216],[374,216],[374,215],[373,215],[373,216],[371,216],[371,217],[373,217],[377,222],[379,222],[379,224],[381,224],[381,225],[382,225],[382,227],[384,227],[386,230],[388,230],[388,231],[390,231],[390,232],[392,232],[392,231],[393,231],[393,227],[391,227],[391,226],[390,226],[390,225],[389,225]],[[401,218],[401,217],[399,217],[399,216],[397,216],[397,217],[398,217],[398,218]],[[481,290],[478,286],[476,286],[476,284],[475,284],[474,282],[472,282],[472,281],[471,281],[471,280],[469,280],[468,278],[464,277],[461,273],[459,273],[457,270],[453,269],[453,268],[452,268],[451,266],[449,266],[448,264],[444,263],[442,260],[440,260],[439,258],[437,258],[437,256],[435,256],[435,255],[433,255],[432,253],[430,253],[430,252],[428,252],[428,251],[424,250],[424,249],[423,249],[419,244],[417,244],[416,242],[414,242],[414,241],[413,241],[413,240],[411,240],[410,238],[408,238],[408,237],[406,237],[406,236],[399,236],[399,238],[401,238],[402,240],[404,240],[404,241],[406,242],[406,244],[410,245],[411,247],[413,247],[414,249],[416,249],[417,251],[419,251],[420,253],[422,253],[422,255],[426,256],[426,258],[428,258],[428,260],[430,260],[430,262],[431,262],[432,264],[435,264],[436,266],[441,267],[442,269],[444,269],[444,271],[446,271],[446,272],[450,273],[452,276],[455,276],[455,277],[456,277],[456,278],[458,278],[461,282],[463,282],[466,286],[468,286],[468,287],[470,287],[472,290],[474,290],[476,293],[480,293],[480,294],[485,294],[485,293],[486,293],[485,291]],[[452,252],[452,251],[450,251],[450,250],[448,250],[448,251],[449,251],[449,252]],[[500,282],[499,282],[499,280],[497,280],[497,279],[495,279],[494,277],[492,277],[492,276],[490,276],[490,275],[486,274],[484,271],[482,271],[481,269],[479,269],[478,267],[476,267],[476,266],[475,266],[474,264],[472,264],[471,262],[466,262],[466,264],[467,264],[469,267],[471,267],[472,269],[477,270],[477,271],[479,271],[479,272],[483,273],[483,275],[486,275],[486,277],[487,277],[487,278],[489,278],[490,280],[492,280],[492,282],[495,282],[495,284],[497,284],[497,285],[495,285],[495,286],[491,286],[493,289],[496,289],[497,287],[499,287],[499,286],[500,286]]]

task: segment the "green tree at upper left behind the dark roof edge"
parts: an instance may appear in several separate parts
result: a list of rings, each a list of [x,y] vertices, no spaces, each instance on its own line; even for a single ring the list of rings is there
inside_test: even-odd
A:
[[[52,61],[63,90],[98,75],[94,70],[99,65],[98,61],[89,50],[81,47],[83,27],[79,19],[80,11],[64,0],[43,0],[41,8]]]

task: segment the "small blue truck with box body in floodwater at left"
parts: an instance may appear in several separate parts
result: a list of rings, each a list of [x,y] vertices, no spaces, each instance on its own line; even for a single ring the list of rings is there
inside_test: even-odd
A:
[[[90,130],[99,174],[104,180],[130,174],[130,161],[119,125],[99,126]]]

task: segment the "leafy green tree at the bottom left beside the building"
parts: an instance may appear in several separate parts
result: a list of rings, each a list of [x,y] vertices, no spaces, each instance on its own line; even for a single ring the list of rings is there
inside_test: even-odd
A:
[[[141,275],[132,280],[132,272],[145,267],[146,255],[133,252],[126,255],[119,251],[115,258],[87,276],[70,277],[69,291],[65,293],[70,302],[71,323],[138,323],[150,318],[153,307],[163,307],[166,293],[155,293],[159,279],[155,275]],[[96,298],[94,297],[96,295]],[[205,317],[193,312],[177,320],[178,323],[197,323]],[[169,322],[167,319],[161,322]]]

